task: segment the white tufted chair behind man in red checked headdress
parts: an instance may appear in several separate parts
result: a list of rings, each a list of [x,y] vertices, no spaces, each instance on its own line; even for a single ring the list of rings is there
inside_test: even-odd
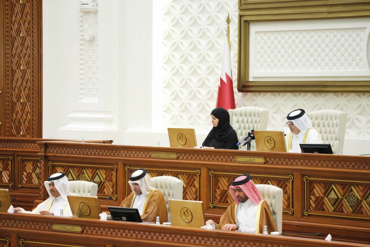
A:
[[[256,187],[261,200],[265,200],[270,207],[277,230],[282,233],[283,190],[273,185],[256,185]]]

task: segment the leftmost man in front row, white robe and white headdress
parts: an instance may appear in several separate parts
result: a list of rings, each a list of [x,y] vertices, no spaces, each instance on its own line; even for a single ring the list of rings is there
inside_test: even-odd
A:
[[[44,186],[49,193],[49,198],[32,211],[26,211],[21,207],[16,207],[15,212],[18,213],[31,213],[31,214],[44,214],[44,215],[57,215],[72,216],[71,208],[67,200],[69,193],[69,181],[64,172],[55,173],[44,181]]]

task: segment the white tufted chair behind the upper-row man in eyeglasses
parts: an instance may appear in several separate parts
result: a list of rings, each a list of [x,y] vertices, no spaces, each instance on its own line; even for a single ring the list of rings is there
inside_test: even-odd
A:
[[[343,149],[347,113],[337,110],[321,110],[307,114],[312,125],[321,135],[323,143],[330,143],[333,153]]]

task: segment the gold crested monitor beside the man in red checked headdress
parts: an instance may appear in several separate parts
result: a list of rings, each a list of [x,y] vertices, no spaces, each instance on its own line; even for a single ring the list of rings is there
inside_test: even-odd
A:
[[[201,227],[206,224],[203,202],[169,199],[172,226]]]

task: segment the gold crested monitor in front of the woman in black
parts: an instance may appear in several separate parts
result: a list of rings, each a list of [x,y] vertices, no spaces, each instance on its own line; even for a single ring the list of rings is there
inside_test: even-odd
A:
[[[196,143],[195,129],[168,128],[169,146],[174,148],[194,148]]]

